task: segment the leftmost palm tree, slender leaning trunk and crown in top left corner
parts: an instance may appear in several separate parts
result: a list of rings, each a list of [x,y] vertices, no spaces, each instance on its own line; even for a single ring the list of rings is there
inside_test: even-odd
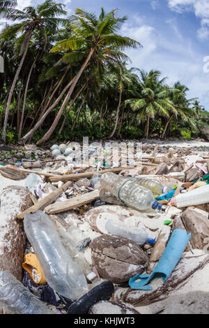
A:
[[[8,1],[11,3],[12,1]],[[46,0],[44,3],[35,7],[26,7],[23,10],[18,10],[17,8],[11,8],[8,6],[3,6],[0,11],[0,17],[6,18],[8,20],[17,21],[20,23],[15,23],[10,27],[3,29],[0,34],[0,39],[10,39],[17,36],[18,32],[22,32],[22,44],[20,47],[20,56],[22,56],[20,64],[15,73],[13,84],[10,88],[10,93],[8,95],[8,101],[6,106],[6,114],[3,124],[2,140],[6,142],[6,124],[8,121],[8,112],[10,110],[10,103],[13,97],[13,92],[15,89],[15,84],[20,75],[20,70],[24,64],[24,59],[28,51],[29,42],[33,31],[40,31],[42,35],[47,37],[47,33],[56,33],[59,23],[63,23],[65,20],[63,18],[58,18],[56,16],[65,15],[66,12],[63,10],[63,5],[56,3],[52,0]]]

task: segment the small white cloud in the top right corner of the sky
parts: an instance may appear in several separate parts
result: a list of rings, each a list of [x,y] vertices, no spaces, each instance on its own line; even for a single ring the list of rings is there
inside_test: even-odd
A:
[[[209,37],[209,0],[168,0],[169,8],[183,13],[185,10],[193,10],[196,17],[201,19],[201,28],[197,36],[204,40]]]

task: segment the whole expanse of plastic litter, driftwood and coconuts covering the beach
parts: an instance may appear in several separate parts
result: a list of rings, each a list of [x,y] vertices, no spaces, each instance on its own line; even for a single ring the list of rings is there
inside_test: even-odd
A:
[[[198,303],[195,277],[209,266],[206,147],[150,142],[125,158],[114,142],[88,154],[69,142],[0,158],[0,313],[151,313],[189,288]],[[208,276],[202,284],[209,292]]]

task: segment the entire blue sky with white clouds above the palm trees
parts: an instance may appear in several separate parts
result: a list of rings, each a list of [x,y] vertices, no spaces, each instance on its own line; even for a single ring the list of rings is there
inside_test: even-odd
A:
[[[58,0],[59,1],[59,0]],[[19,8],[40,3],[17,0]],[[61,0],[69,14],[75,8],[100,13],[118,8],[127,15],[121,33],[138,40],[143,48],[127,50],[130,66],[158,69],[167,83],[189,87],[189,98],[199,97],[209,111],[209,0]],[[206,60],[206,59],[205,59]],[[208,73],[206,73],[208,71]]]

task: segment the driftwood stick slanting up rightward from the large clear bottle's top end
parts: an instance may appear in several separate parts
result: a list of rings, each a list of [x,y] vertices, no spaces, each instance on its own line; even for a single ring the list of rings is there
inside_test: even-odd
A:
[[[52,202],[54,202],[54,200],[56,200],[56,198],[58,198],[63,193],[63,191],[65,191],[71,185],[72,185],[72,181],[66,182],[65,184],[63,184],[63,186],[57,188],[56,191],[53,191],[39,202],[29,207],[29,209],[26,209],[26,211],[23,211],[22,213],[18,214],[15,217],[15,219],[17,221],[18,219],[22,220],[26,214],[35,213],[36,211],[38,211],[38,209],[40,210],[45,209],[47,205],[52,204]]]

